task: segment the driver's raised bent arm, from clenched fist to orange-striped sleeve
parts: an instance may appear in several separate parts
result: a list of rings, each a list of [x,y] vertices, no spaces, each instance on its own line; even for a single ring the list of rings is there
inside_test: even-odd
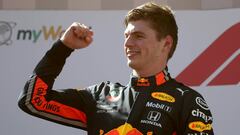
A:
[[[86,129],[86,104],[91,101],[87,91],[53,90],[67,57],[74,49],[87,47],[93,32],[85,25],[73,23],[60,40],[54,43],[35,67],[18,101],[19,107],[31,115],[60,124]]]

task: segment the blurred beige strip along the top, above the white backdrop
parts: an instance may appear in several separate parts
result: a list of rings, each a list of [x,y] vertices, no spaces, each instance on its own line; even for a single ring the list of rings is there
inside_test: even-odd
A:
[[[148,0],[0,0],[4,10],[128,10]],[[175,10],[239,8],[240,0],[152,0]]]

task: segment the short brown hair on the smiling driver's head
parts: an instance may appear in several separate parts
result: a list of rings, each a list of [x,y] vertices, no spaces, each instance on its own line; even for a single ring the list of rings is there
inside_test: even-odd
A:
[[[124,19],[125,26],[131,21],[145,20],[150,23],[150,27],[157,32],[158,40],[170,35],[173,38],[173,46],[169,52],[170,59],[176,49],[178,41],[178,27],[170,7],[157,5],[152,2],[145,3],[128,12]]]

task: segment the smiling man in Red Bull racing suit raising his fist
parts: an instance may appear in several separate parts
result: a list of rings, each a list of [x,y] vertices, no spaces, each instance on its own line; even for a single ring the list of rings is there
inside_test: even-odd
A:
[[[36,66],[20,108],[90,135],[213,135],[203,97],[168,73],[178,39],[170,8],[146,3],[129,11],[125,24],[124,48],[133,69],[127,86],[108,81],[52,90],[66,58],[93,41],[92,30],[73,23]]]

